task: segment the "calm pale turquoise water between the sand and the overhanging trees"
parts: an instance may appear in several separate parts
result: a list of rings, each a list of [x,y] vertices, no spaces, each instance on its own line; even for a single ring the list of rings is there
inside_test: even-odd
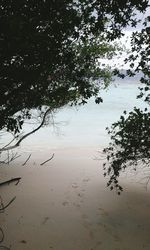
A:
[[[130,111],[134,106],[144,107],[145,103],[136,96],[138,84],[122,81],[112,84],[109,89],[101,91],[103,103],[88,104],[80,107],[66,107],[55,114],[55,126],[41,129],[36,135],[23,142],[28,150],[45,150],[77,147],[103,147],[109,142],[105,128],[117,119],[124,110]],[[31,129],[33,126],[26,126]]]

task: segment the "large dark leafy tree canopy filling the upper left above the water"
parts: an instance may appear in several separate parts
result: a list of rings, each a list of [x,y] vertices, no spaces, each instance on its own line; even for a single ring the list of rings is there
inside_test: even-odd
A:
[[[98,58],[114,53],[109,41],[126,25],[135,26],[134,10],[143,12],[147,4],[2,0],[0,129],[19,132],[32,108],[59,108],[97,96],[110,79]]]

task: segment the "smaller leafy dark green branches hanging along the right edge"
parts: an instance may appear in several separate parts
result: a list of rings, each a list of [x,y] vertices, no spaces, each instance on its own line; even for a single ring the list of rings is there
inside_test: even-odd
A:
[[[118,194],[123,190],[118,182],[122,171],[150,165],[150,16],[145,18],[142,30],[133,33],[131,55],[125,62],[130,62],[129,76],[139,72],[142,75],[137,98],[143,98],[146,108],[135,107],[129,114],[124,111],[120,120],[108,129],[111,143],[104,149],[107,154],[104,176],[110,177],[108,186],[115,188]]]

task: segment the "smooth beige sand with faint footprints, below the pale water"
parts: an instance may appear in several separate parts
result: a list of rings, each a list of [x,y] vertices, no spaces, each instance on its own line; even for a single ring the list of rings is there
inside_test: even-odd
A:
[[[1,187],[3,245],[11,250],[150,249],[150,192],[123,178],[121,196],[106,188],[95,148],[33,153],[1,166],[1,180],[22,177]]]

